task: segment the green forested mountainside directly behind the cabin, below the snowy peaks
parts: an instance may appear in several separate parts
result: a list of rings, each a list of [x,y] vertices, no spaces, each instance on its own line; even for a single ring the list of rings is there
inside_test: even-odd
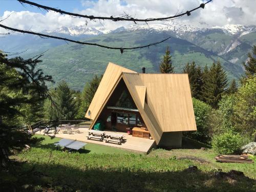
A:
[[[156,42],[168,36],[170,34],[166,32],[136,30],[98,35],[86,41],[116,47],[134,47],[147,45],[149,42]],[[194,60],[197,65],[203,67],[210,66],[218,59],[227,71],[229,79],[237,79],[242,73],[240,66],[174,36],[150,49],[127,51],[123,54],[120,54],[118,50],[94,46],[62,45],[50,49],[42,57],[44,62],[39,67],[45,73],[53,75],[56,82],[64,79],[73,89],[81,90],[94,74],[102,74],[110,61],[135,71],[140,71],[142,67],[145,67],[147,73],[159,72],[159,62],[167,46],[170,47],[176,73],[181,73],[187,62]]]

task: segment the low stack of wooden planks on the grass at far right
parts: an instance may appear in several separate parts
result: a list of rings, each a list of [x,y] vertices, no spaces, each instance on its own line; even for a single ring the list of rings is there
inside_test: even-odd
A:
[[[227,163],[253,163],[252,159],[248,158],[248,155],[218,155],[215,157],[216,161]]]

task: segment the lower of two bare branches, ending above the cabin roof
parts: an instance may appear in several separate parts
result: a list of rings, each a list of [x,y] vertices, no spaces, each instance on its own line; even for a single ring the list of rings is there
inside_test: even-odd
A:
[[[148,44],[148,45],[145,45],[145,46],[138,46],[138,47],[131,47],[131,48],[122,48],[122,47],[103,46],[103,45],[99,45],[99,44],[92,44],[92,43],[90,43],[90,42],[81,42],[81,41],[72,40],[72,39],[63,38],[63,37],[57,37],[57,36],[52,36],[52,35],[46,35],[46,34],[42,34],[42,33],[36,33],[36,32],[32,32],[32,31],[27,31],[27,30],[15,29],[15,28],[11,28],[11,27],[8,27],[8,26],[4,26],[4,25],[2,25],[2,24],[0,24],[0,27],[1,27],[1,28],[4,28],[4,29],[11,30],[11,31],[20,32],[20,33],[28,33],[28,34],[32,34],[32,35],[38,35],[38,36],[43,37],[43,38],[46,37],[46,38],[61,39],[61,40],[65,40],[65,41],[75,42],[76,44],[90,45],[90,46],[98,46],[98,47],[102,47],[102,48],[106,48],[106,49],[117,49],[117,50],[120,50],[121,53],[123,53],[124,50],[141,49],[141,48],[145,48],[145,47],[149,48],[149,47],[151,47],[151,46],[160,44],[161,42],[166,41],[167,39],[170,38],[170,37],[168,37],[168,38],[166,38],[166,39],[164,39],[164,40],[162,40],[162,41],[153,42],[152,44]]]

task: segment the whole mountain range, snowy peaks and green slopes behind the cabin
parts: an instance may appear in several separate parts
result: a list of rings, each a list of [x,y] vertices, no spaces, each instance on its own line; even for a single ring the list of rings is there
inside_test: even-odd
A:
[[[175,72],[181,73],[187,62],[210,66],[220,60],[228,79],[238,79],[243,74],[242,62],[256,45],[256,26],[226,25],[223,27],[199,27],[165,22],[151,25],[129,25],[113,31],[87,26],[61,27],[43,31],[55,36],[95,42],[115,47],[134,47],[169,40],[149,49],[138,49],[120,54],[94,46],[83,46],[57,39],[45,39],[32,35],[10,35],[0,39],[0,50],[21,52],[25,58],[48,50],[39,68],[53,75],[56,82],[64,79],[73,89],[81,90],[94,74],[102,74],[109,61],[126,68],[148,73],[159,72],[159,62],[167,46],[170,47]]]

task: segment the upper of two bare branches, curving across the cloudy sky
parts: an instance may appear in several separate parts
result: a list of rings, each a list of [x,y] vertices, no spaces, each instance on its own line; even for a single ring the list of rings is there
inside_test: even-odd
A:
[[[17,0],[17,1],[19,3],[21,3],[21,4],[25,3],[25,4],[32,5],[32,6],[36,6],[38,8],[45,9],[46,11],[50,11],[51,10],[51,11],[58,12],[60,14],[67,14],[67,15],[71,15],[71,16],[75,16],[75,17],[89,18],[90,20],[93,20],[93,19],[103,19],[103,20],[113,20],[114,22],[130,21],[130,22],[135,22],[136,23],[136,22],[153,22],[155,20],[168,20],[168,19],[173,19],[173,18],[181,17],[183,15],[189,16],[191,14],[191,12],[196,11],[199,8],[203,8],[204,9],[205,5],[208,4],[209,2],[211,2],[212,0],[209,0],[206,3],[202,3],[198,7],[194,8],[194,9],[191,9],[191,10],[188,10],[188,11],[186,11],[184,13],[180,13],[180,14],[173,15],[173,16],[168,16],[168,17],[146,18],[146,19],[133,18],[133,17],[131,17],[130,15],[128,15],[126,13],[125,13],[125,15],[120,16],[120,17],[113,17],[113,16],[102,17],[102,16],[93,16],[93,15],[82,15],[82,14],[78,14],[78,13],[71,13],[71,12],[67,12],[67,11],[62,11],[61,9],[55,9],[55,8],[48,7],[48,6],[43,6],[43,5],[36,4],[36,3],[30,2],[30,1],[27,1],[27,0]]]

